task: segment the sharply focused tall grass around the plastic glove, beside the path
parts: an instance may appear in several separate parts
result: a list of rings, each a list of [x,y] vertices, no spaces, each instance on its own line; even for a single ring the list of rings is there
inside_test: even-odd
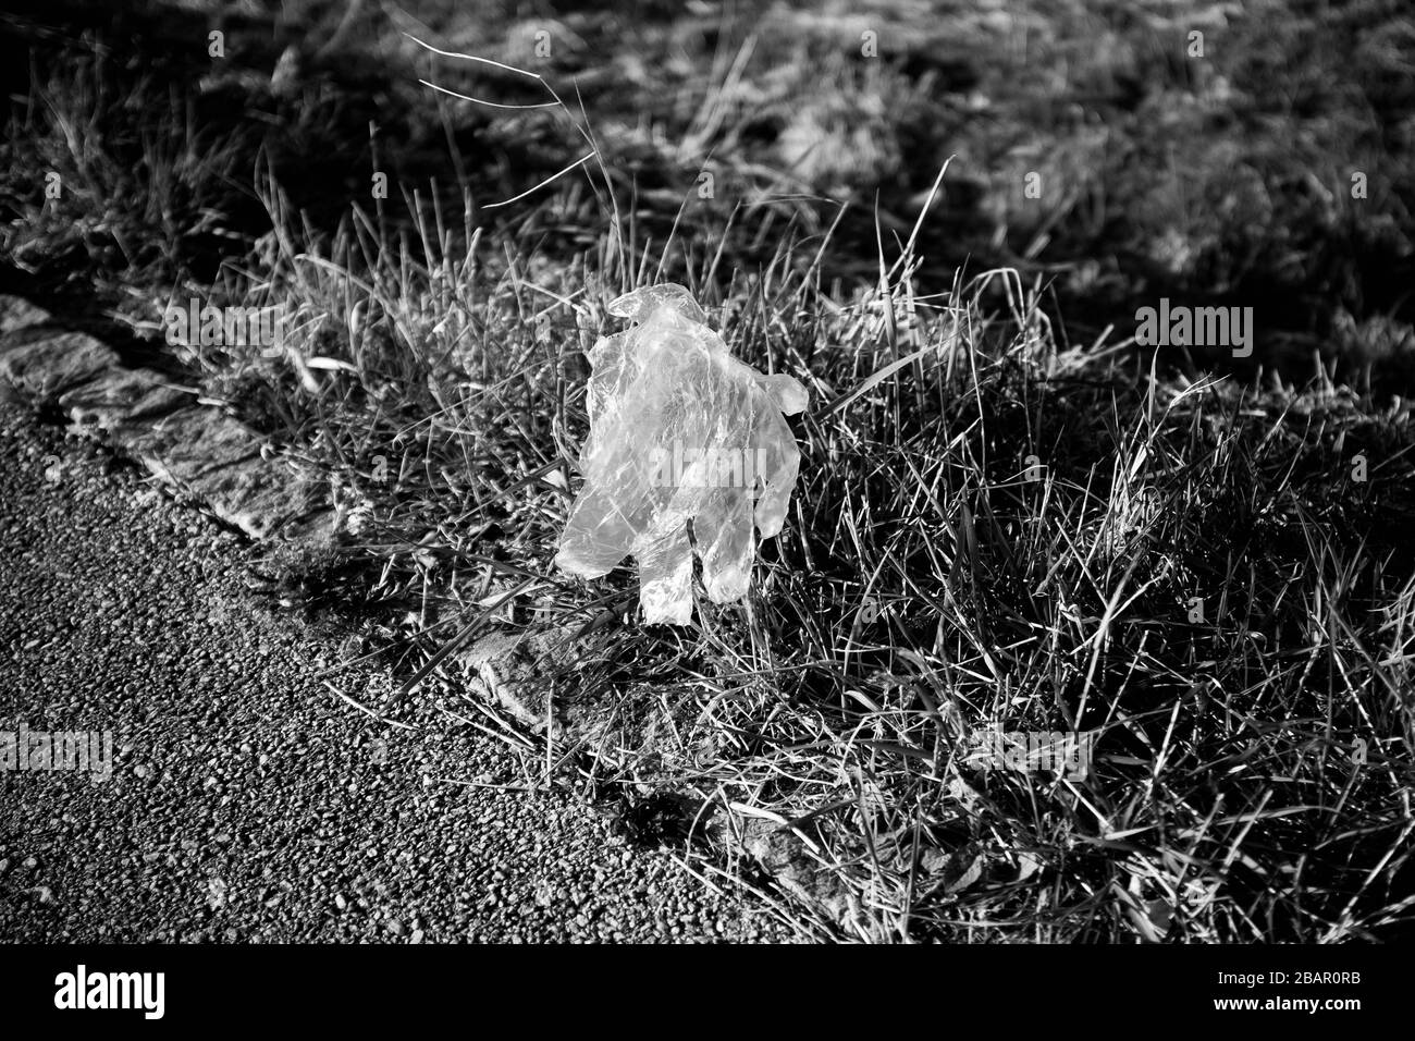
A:
[[[614,290],[590,263],[484,268],[475,232],[446,249],[464,239],[423,218],[383,245],[355,221],[328,255],[275,235],[259,300],[299,316],[287,355],[191,360],[330,482],[412,661],[528,579],[519,625],[634,596],[628,567],[548,571]],[[744,605],[703,599],[688,632],[610,620],[601,697],[669,683],[675,725],[606,780],[792,821],[869,939],[1401,928],[1408,408],[1156,377],[1060,347],[1012,272],[927,297],[914,266],[835,299],[782,261],[719,307],[816,402],[792,523]],[[988,727],[1094,731],[1094,769],[978,769]]]

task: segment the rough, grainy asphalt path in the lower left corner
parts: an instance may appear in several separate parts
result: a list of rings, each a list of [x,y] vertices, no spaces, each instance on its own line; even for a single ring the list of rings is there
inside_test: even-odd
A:
[[[782,938],[573,792],[434,780],[525,775],[440,712],[347,705],[316,677],[338,652],[249,591],[252,550],[110,469],[0,405],[0,739],[113,735],[108,779],[0,769],[0,939]]]

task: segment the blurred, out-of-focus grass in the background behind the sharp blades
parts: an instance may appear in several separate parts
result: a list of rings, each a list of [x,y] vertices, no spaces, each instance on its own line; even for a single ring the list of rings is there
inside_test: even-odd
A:
[[[577,6],[525,17],[511,6],[437,0],[300,0],[279,16],[242,18],[218,4],[178,13],[130,0],[117,8],[122,51],[93,28],[92,11],[74,13],[67,0],[47,7],[35,24],[88,34],[129,79],[149,71],[175,85],[204,133],[239,125],[253,135],[296,208],[324,232],[350,201],[371,201],[378,170],[439,193],[453,224],[470,198],[475,224],[569,262],[599,235],[601,208],[583,181],[553,204],[548,195],[485,207],[583,156],[569,122],[590,112],[640,241],[662,244],[674,229],[693,244],[724,239],[716,278],[726,279],[733,266],[770,263],[788,228],[833,228],[838,249],[819,261],[826,276],[870,279],[876,220],[906,234],[954,156],[923,258],[932,279],[947,283],[969,258],[1053,279],[1065,312],[1050,299],[1044,306],[1082,339],[1118,320],[1128,329],[1128,316],[1159,296],[1254,306],[1257,358],[1289,377],[1305,378],[1315,351],[1336,358],[1343,375],[1370,370],[1377,391],[1407,392],[1415,374],[1409,350],[1387,350],[1390,337],[1370,324],[1394,327],[1395,344],[1415,329],[1407,290],[1415,99],[1398,0],[1266,0],[1241,10],[945,0],[848,13],[773,4],[737,16],[647,6],[634,18]],[[224,58],[207,55],[208,28],[226,33]],[[1193,31],[1204,34],[1203,57],[1189,54]],[[518,108],[545,102],[533,81],[447,61],[408,34],[524,65],[560,85],[572,112]],[[865,52],[867,34],[874,57]],[[58,65],[72,64],[72,45],[33,25],[25,35]],[[123,92],[115,81],[110,95]],[[158,139],[190,129],[185,113],[163,115],[168,105],[143,98],[103,113],[103,129],[136,123],[133,136]],[[25,159],[37,149],[25,135],[16,142],[24,177],[11,191],[38,198]],[[140,153],[116,152],[120,169],[143,169]],[[248,186],[258,164],[246,159],[226,171],[242,184],[242,214],[226,224],[253,235],[259,214],[250,218]],[[713,178],[706,191],[705,173]],[[1363,198],[1351,197],[1357,173]],[[174,214],[184,195],[212,194],[214,178],[200,180],[177,194]],[[115,187],[112,178],[98,186]],[[122,234],[119,210],[164,200],[163,186],[123,187],[89,193],[96,212],[76,222]],[[386,207],[395,218],[398,194]],[[197,207],[208,221],[211,210]],[[30,210],[24,217],[30,222]],[[799,262],[812,259],[802,252]],[[170,272],[151,275],[161,286]],[[1210,355],[1197,364],[1231,363]]]

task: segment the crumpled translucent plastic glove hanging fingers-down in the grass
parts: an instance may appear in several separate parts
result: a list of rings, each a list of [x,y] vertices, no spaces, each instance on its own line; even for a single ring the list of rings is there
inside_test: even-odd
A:
[[[807,391],[734,358],[679,285],[637,289],[610,313],[635,324],[590,350],[584,487],[555,562],[600,578],[633,555],[644,620],[688,625],[693,542],[709,599],[732,603],[751,581],[753,525],[780,534],[801,463],[782,414]]]

